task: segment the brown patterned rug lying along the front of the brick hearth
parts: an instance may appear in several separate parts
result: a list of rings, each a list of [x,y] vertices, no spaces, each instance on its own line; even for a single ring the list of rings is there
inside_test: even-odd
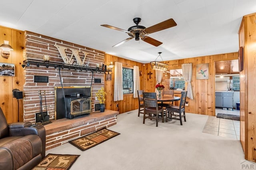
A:
[[[87,134],[86,136],[71,140],[69,142],[80,150],[86,150],[92,148],[93,146],[96,146],[97,144],[105,142],[106,140],[113,138],[118,134],[120,133],[103,128],[91,134]]]

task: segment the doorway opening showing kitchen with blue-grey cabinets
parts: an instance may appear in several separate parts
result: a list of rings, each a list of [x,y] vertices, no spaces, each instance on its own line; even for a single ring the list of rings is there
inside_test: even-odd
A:
[[[215,61],[215,116],[240,115],[240,75],[238,59]]]

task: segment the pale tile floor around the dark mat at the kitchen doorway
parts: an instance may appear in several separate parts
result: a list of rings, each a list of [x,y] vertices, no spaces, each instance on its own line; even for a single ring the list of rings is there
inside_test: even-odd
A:
[[[216,115],[217,113],[239,115],[240,111],[216,109]],[[240,121],[209,116],[202,132],[240,140]]]

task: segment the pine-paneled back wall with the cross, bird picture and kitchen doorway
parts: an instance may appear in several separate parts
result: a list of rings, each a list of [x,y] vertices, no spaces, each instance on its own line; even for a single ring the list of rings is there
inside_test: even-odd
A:
[[[238,59],[238,53],[226,53],[226,54],[218,54],[218,55],[208,55],[202,57],[193,57],[187,59],[179,59],[179,60],[170,60],[164,61],[164,63],[168,64],[168,69],[181,69],[181,65],[183,63],[192,63],[192,88],[194,100],[190,100],[187,98],[188,106],[186,107],[186,112],[188,113],[196,113],[201,115],[210,115],[215,116],[215,61],[222,60],[232,60]],[[209,63],[209,79],[206,80],[197,80],[196,79],[196,65],[201,63]],[[156,75],[155,71],[151,69],[150,64],[145,65],[145,77],[144,83],[145,91],[154,91],[154,86],[156,85]],[[153,75],[151,79],[149,79],[148,73],[151,72]],[[164,77],[164,75],[163,75]]]

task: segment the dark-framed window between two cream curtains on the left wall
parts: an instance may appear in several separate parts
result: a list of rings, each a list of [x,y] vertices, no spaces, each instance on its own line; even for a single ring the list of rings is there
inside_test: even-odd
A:
[[[123,68],[123,94],[133,93],[133,69]]]

